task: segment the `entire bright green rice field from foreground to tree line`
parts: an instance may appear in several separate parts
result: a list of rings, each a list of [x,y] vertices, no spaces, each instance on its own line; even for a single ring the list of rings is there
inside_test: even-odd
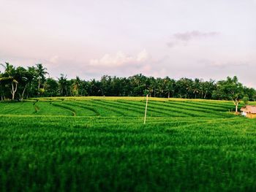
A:
[[[256,120],[230,101],[0,102],[0,191],[256,191]],[[241,107],[241,106],[240,106]]]

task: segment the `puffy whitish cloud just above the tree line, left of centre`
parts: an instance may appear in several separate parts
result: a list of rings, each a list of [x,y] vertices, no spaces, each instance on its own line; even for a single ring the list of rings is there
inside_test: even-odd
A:
[[[137,55],[127,55],[118,51],[115,55],[105,54],[102,58],[94,58],[89,61],[91,66],[126,66],[130,64],[142,64],[148,60],[148,53],[142,50]]]

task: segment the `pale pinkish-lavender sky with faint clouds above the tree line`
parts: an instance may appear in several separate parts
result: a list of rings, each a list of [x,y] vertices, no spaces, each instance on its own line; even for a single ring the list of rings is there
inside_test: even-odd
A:
[[[0,0],[0,63],[256,88],[256,0]]]

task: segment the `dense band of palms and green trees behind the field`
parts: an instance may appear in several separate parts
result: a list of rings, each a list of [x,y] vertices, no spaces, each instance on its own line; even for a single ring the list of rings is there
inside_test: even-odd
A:
[[[58,80],[46,77],[48,72],[42,64],[27,69],[1,64],[0,96],[4,99],[18,99],[39,96],[145,96],[173,97],[186,99],[225,99],[237,104],[244,96],[249,101],[256,100],[256,91],[246,88],[237,77],[227,80],[204,81],[201,79],[170,77],[155,78],[136,74],[132,77],[110,77],[101,80],[81,80],[79,77],[68,80],[61,74]]]

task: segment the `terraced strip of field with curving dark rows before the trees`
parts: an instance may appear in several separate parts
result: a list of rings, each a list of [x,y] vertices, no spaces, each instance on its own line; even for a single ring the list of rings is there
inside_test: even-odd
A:
[[[0,103],[0,114],[134,116],[143,117],[145,101],[128,99],[92,99],[80,101],[37,101]],[[233,117],[230,102],[217,101],[149,101],[148,117]]]

